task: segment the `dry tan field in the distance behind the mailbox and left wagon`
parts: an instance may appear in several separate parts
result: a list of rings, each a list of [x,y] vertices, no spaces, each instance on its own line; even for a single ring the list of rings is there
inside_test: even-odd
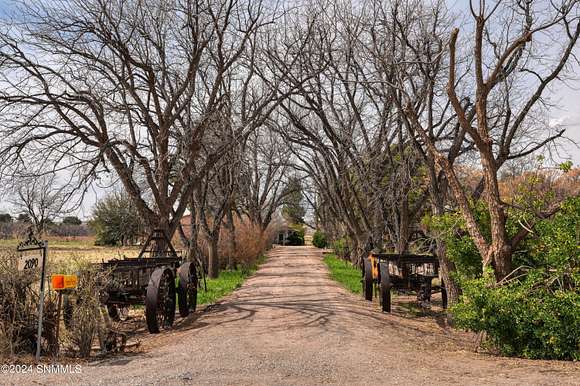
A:
[[[0,251],[15,251],[22,240],[0,240]],[[48,238],[49,261],[59,261],[72,257],[83,257],[100,262],[114,258],[137,257],[140,247],[99,247],[94,237]]]

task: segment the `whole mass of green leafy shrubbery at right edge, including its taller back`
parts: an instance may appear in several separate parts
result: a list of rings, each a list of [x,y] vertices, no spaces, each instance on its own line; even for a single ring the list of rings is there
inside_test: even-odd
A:
[[[451,310],[457,326],[486,332],[504,355],[580,360],[579,236],[576,197],[535,225],[511,279],[497,285],[487,271],[461,282],[463,295]]]

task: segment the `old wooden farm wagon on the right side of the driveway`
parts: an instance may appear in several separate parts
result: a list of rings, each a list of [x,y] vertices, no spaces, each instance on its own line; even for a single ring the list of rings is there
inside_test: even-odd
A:
[[[391,289],[414,291],[421,303],[430,302],[431,295],[441,292],[443,307],[447,307],[444,283],[432,285],[439,276],[439,261],[433,255],[371,253],[363,264],[363,295],[373,300],[378,290],[381,309],[391,312]]]

